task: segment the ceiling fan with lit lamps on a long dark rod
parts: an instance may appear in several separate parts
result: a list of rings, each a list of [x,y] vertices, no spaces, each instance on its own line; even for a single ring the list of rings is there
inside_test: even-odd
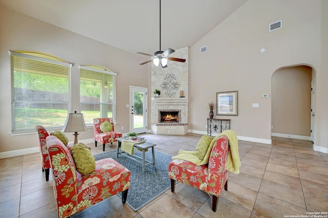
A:
[[[159,0],[159,51],[154,52],[154,55],[146,54],[146,53],[143,53],[143,52],[137,52],[137,54],[142,54],[142,55],[147,55],[147,56],[152,57],[152,59],[147,60],[143,63],[140,63],[140,65],[153,61],[155,66],[160,65],[162,68],[166,68],[166,67],[168,67],[167,66],[168,60],[178,61],[178,62],[185,62],[186,59],[169,57],[170,54],[175,52],[173,49],[168,48],[166,51],[161,51],[160,50],[160,23],[161,23],[160,22],[160,5],[161,5],[160,1],[161,0]]]

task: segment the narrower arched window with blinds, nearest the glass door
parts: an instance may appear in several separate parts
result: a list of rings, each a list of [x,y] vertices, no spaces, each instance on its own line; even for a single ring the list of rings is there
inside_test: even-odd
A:
[[[98,66],[80,68],[80,109],[86,125],[94,118],[115,117],[116,73]]]

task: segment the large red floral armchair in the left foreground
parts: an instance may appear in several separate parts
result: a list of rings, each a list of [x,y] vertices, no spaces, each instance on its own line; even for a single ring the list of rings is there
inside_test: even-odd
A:
[[[122,192],[127,199],[131,172],[112,158],[96,161],[95,170],[81,176],[70,151],[58,138],[47,137],[58,217],[68,217]]]

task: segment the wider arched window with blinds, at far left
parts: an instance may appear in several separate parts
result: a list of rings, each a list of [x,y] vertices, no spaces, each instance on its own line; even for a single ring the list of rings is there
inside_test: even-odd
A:
[[[63,128],[69,112],[71,63],[37,52],[11,52],[12,133],[36,125]]]

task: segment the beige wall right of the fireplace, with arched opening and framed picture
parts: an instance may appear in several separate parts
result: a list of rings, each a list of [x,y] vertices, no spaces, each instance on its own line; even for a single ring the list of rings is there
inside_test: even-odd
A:
[[[322,63],[328,50],[328,19],[322,15],[327,10],[324,0],[249,0],[195,43],[189,58],[189,128],[206,130],[207,102],[215,101],[217,92],[237,90],[238,116],[214,118],[231,119],[240,139],[270,141],[272,75],[283,67],[308,65],[317,81],[315,145],[328,152],[328,67]],[[269,32],[269,24],[280,19],[282,28]],[[208,51],[200,54],[203,46]]]

